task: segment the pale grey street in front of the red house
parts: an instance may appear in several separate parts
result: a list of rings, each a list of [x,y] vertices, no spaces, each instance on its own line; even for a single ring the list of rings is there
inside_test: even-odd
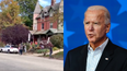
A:
[[[0,71],[64,71],[64,61],[19,54],[0,54]]]

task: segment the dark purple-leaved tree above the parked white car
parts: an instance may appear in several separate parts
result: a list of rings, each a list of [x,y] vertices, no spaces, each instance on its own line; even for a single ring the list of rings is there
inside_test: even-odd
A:
[[[5,44],[19,45],[21,43],[26,43],[28,29],[21,24],[9,26],[2,31],[1,38]]]

